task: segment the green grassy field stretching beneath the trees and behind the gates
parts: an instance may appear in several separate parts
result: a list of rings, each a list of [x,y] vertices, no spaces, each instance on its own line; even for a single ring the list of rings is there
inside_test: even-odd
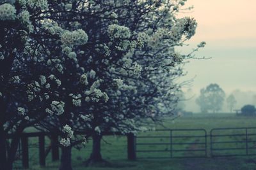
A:
[[[234,114],[195,114],[191,117],[180,117],[175,120],[166,119],[164,121],[164,126],[170,129],[205,129],[207,134],[213,128],[220,127],[256,127],[256,117],[237,117]],[[157,129],[163,129],[163,127],[158,127]],[[189,134],[188,132],[186,132]],[[237,133],[237,132],[236,132]],[[238,132],[239,133],[239,132]],[[254,133],[254,132],[251,132]],[[159,135],[168,136],[166,132],[147,132],[147,134],[139,134],[138,136],[147,135]],[[148,139],[140,139],[141,143],[154,142]],[[159,138],[157,143],[168,143],[169,139]],[[186,140],[186,139],[184,139]],[[194,139],[189,139],[193,140]],[[221,139],[222,140],[222,139]],[[228,138],[223,139],[228,140]],[[255,139],[252,139],[256,141]],[[106,142],[104,142],[106,141]],[[76,150],[74,148],[72,152],[72,163],[74,165],[74,170],[82,169],[92,169],[92,170],[110,170],[110,169],[123,169],[123,170],[143,170],[143,169],[159,169],[159,170],[250,170],[256,169],[256,157],[221,157],[221,158],[200,158],[200,159],[138,159],[136,161],[127,160],[127,145],[125,136],[105,136],[104,141],[102,141],[102,157],[111,162],[109,167],[85,167],[83,166],[84,160],[88,159],[91,152],[92,142],[89,140],[88,146],[82,148],[81,150]],[[209,143],[209,139],[207,140]],[[58,169],[58,162],[51,162],[51,154],[47,156],[47,167],[40,168],[38,166],[38,148],[36,144],[37,139],[29,139],[31,143],[31,148],[29,149],[29,162],[30,169],[35,170],[53,170]],[[237,145],[237,144],[236,144]],[[253,144],[252,144],[253,145]],[[33,148],[33,146],[35,146]],[[225,145],[223,145],[225,146]],[[161,146],[141,146],[139,149],[150,149],[150,150],[168,150],[169,145]],[[143,148],[144,147],[144,148]],[[147,148],[148,147],[148,148]],[[189,148],[188,146],[184,146]],[[255,149],[256,150],[256,149]],[[208,148],[209,152],[209,148]],[[256,153],[256,152],[255,152]],[[138,153],[138,157],[159,157],[164,156],[164,154],[170,155],[170,153]],[[181,153],[185,154],[185,153]],[[20,162],[15,164],[17,169],[20,169]]]

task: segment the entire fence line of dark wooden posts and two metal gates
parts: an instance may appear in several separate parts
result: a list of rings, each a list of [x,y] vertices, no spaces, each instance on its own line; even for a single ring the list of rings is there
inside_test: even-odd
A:
[[[59,160],[58,135],[46,132],[23,133],[20,136],[22,167],[29,167],[29,138],[38,138],[40,166],[45,166],[45,158],[49,153],[52,161]],[[51,141],[46,147],[45,138]],[[205,129],[163,129],[144,132],[143,136],[127,134],[129,160],[243,155],[256,155],[256,127],[211,129],[209,135]]]

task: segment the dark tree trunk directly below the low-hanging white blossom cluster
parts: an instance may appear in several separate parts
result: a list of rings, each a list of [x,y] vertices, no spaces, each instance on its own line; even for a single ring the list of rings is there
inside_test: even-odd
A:
[[[72,152],[71,146],[61,147],[61,158],[60,158],[59,170],[72,170],[71,152]]]

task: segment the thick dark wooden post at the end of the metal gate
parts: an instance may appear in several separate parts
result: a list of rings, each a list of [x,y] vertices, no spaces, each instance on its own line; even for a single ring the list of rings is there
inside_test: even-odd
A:
[[[128,160],[136,160],[136,137],[134,134],[127,134],[127,155]]]

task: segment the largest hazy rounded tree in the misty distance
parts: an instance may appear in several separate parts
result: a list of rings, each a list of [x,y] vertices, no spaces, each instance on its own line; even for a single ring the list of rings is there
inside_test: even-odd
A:
[[[216,113],[221,110],[224,99],[225,92],[218,84],[212,83],[200,90],[200,96],[196,99],[196,103],[203,113],[209,111]]]

